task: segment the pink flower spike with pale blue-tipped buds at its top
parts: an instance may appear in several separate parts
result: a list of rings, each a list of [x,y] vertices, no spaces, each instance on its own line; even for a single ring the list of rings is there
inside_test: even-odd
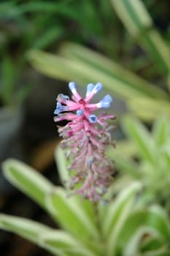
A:
[[[69,83],[72,100],[59,94],[54,112],[57,115],[54,121],[69,121],[64,127],[58,127],[58,132],[63,138],[61,147],[68,150],[66,156],[70,160],[67,168],[70,189],[79,184],[79,188],[74,189],[72,195],[80,194],[82,198],[91,201],[101,200],[113,178],[112,162],[105,157],[105,152],[109,145],[114,146],[110,134],[114,126],[109,126],[106,120],[115,116],[105,112],[98,116],[93,113],[98,108],[109,108],[112,97],[108,94],[98,103],[89,103],[101,88],[101,83],[89,83],[86,97],[82,99],[77,93],[75,83]]]

